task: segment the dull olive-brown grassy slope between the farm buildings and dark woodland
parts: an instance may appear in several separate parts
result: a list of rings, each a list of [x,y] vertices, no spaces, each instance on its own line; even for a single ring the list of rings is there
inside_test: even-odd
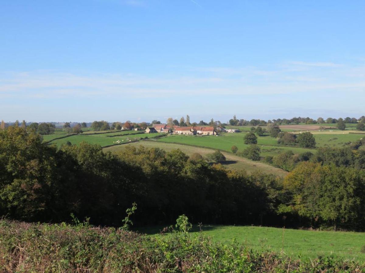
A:
[[[211,149],[205,149],[205,148],[201,148],[201,147],[193,147],[193,146],[187,146],[187,145],[180,145],[180,144],[174,144],[174,143],[162,143],[162,142],[158,142],[158,141],[142,141],[142,142],[137,142],[137,143],[130,143],[128,145],[119,145],[119,146],[108,147],[108,148],[104,148],[104,150],[121,151],[121,150],[125,149],[126,146],[130,146],[130,145],[133,145],[133,146],[143,145],[148,148],[160,148],[160,149],[164,149],[166,151],[180,149],[187,155],[191,155],[193,153],[199,153],[204,156],[208,153],[213,152],[213,150],[211,150]],[[264,173],[279,175],[281,177],[284,177],[285,175],[288,174],[286,171],[284,171],[282,169],[275,168],[273,166],[270,166],[270,165],[267,165],[264,163],[251,161],[246,158],[238,157],[236,155],[233,155],[232,153],[223,153],[223,154],[227,159],[227,162],[225,165],[230,169],[238,169],[238,170],[244,169],[248,173],[252,173],[253,171],[260,170]]]

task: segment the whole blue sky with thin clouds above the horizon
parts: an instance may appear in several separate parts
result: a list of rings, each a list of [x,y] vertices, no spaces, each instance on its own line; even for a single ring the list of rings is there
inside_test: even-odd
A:
[[[365,1],[0,2],[0,119],[365,114]]]

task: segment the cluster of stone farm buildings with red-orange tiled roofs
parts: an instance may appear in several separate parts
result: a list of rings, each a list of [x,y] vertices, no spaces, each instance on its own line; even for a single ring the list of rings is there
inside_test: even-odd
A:
[[[147,127],[146,133],[165,132],[177,135],[217,135],[218,130],[214,126],[170,126],[167,124],[153,124]]]

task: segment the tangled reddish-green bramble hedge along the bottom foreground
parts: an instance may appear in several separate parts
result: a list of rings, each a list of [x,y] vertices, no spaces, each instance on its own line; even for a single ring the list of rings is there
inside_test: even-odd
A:
[[[184,220],[185,221],[185,220]],[[147,237],[111,227],[0,221],[1,272],[361,272],[354,261],[214,243],[203,234]]]

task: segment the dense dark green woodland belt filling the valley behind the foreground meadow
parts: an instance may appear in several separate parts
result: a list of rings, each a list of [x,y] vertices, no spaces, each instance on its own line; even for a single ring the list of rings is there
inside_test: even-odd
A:
[[[293,155],[288,155],[288,161]],[[138,204],[135,225],[192,222],[341,227],[365,224],[365,156],[319,149],[284,179],[227,170],[180,150],[128,147],[118,154],[81,143],[60,149],[22,127],[0,130],[0,210],[26,221],[120,226]]]

